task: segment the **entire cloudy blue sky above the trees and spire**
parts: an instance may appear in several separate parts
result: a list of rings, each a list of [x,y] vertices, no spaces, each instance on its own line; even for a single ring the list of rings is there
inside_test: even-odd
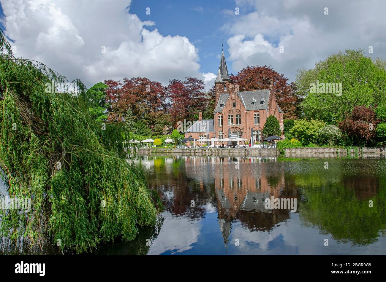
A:
[[[328,55],[362,49],[386,58],[385,0],[0,0],[17,56],[86,86],[105,79],[199,77],[271,65],[289,81]],[[146,15],[146,8],[150,15]],[[235,14],[239,8],[239,15]],[[326,9],[328,13],[326,13]],[[369,53],[369,47],[373,53]],[[280,50],[283,49],[283,52]]]

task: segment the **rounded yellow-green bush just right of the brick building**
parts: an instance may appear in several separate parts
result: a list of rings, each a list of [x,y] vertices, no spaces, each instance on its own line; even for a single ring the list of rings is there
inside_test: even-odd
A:
[[[297,119],[289,132],[292,133],[296,139],[300,140],[301,144],[308,145],[309,143],[317,143],[319,129],[322,129],[325,125],[323,121],[316,119]]]

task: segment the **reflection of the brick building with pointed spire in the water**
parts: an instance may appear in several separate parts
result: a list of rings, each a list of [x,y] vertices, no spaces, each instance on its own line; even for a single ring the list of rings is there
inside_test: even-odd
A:
[[[259,158],[223,158],[214,178],[220,229],[225,245],[230,222],[240,220],[250,230],[269,230],[289,218],[289,209],[266,209],[264,200],[298,198],[296,189],[284,183],[284,163]]]

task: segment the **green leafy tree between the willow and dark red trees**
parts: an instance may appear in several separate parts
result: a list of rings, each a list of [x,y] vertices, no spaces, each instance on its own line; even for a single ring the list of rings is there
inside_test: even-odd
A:
[[[90,107],[88,112],[96,121],[105,121],[107,119],[106,107],[106,89],[108,86],[103,82],[98,82],[93,87],[87,90]]]

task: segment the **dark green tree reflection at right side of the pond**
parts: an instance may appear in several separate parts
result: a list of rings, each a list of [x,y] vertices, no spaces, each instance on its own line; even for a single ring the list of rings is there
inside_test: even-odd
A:
[[[298,187],[303,198],[300,219],[334,240],[358,245],[375,242],[379,231],[386,228],[385,178],[331,174],[291,176],[302,184]]]

